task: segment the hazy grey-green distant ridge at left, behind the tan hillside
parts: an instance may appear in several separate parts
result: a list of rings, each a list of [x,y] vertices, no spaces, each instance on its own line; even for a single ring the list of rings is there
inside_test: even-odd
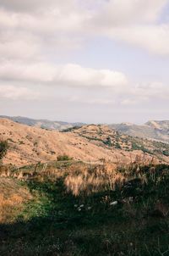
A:
[[[23,124],[23,125],[35,126],[42,129],[57,130],[57,131],[63,131],[68,128],[73,128],[74,126],[80,127],[82,125],[85,125],[83,123],[68,123],[68,122],[51,121],[51,120],[34,120],[27,117],[22,117],[22,116],[0,115],[0,119],[2,118],[13,120],[16,123]]]

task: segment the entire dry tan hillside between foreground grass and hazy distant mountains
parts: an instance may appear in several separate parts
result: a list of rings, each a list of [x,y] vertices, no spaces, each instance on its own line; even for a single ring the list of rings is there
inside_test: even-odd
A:
[[[63,154],[85,162],[106,159],[127,164],[137,156],[144,161],[155,157],[160,162],[169,162],[167,144],[120,135],[105,125],[85,125],[59,132],[1,119],[0,140],[9,143],[4,163],[19,166],[54,161]]]

